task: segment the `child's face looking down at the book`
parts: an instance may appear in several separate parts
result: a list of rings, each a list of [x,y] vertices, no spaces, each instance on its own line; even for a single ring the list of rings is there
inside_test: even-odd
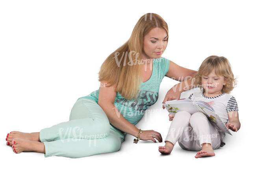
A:
[[[211,71],[209,75],[202,76],[202,86],[206,95],[220,95],[223,85],[226,85],[224,76],[216,75],[215,71]]]

